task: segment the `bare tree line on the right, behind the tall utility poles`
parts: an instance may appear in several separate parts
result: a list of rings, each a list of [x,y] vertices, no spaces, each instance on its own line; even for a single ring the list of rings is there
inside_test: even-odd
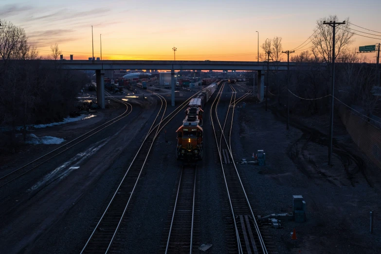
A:
[[[331,61],[335,58],[335,97],[345,104],[361,107],[369,117],[378,109],[379,97],[374,92],[376,70],[371,64],[365,63],[367,59],[363,54],[350,48],[355,41],[355,33],[349,29],[349,18],[345,20],[345,25],[336,29],[335,56],[332,56],[332,27],[324,25],[324,20],[339,21],[337,16],[317,20],[308,48],[299,54],[295,52],[290,55],[291,62],[309,63],[308,70],[290,71],[290,91],[301,97],[290,96],[290,110],[300,114],[324,114],[329,111],[330,97],[325,96],[330,95]],[[282,38],[268,39],[261,48],[271,51],[270,57],[266,57],[270,59],[269,64],[275,67],[275,71],[269,72],[269,91],[275,95],[279,105],[286,105],[287,73],[276,68],[278,61],[286,57],[286,54],[281,53]],[[267,60],[264,55],[260,59]]]

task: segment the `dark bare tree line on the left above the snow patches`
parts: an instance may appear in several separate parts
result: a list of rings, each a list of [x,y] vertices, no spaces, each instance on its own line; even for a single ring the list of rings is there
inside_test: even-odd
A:
[[[51,47],[48,57],[54,59],[54,64],[44,63],[39,61],[43,58],[23,28],[11,22],[2,23],[1,28],[0,126],[12,130],[9,135],[3,132],[1,139],[2,145],[13,149],[17,126],[23,126],[25,141],[27,124],[50,123],[67,117],[88,77],[60,68],[61,51],[57,44]]]

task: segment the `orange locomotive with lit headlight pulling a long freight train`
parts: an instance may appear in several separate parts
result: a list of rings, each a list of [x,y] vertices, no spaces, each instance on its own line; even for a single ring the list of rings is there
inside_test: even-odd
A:
[[[203,108],[218,89],[222,80],[212,83],[203,89],[195,98],[189,101],[188,108],[185,111],[185,119],[182,125],[176,131],[177,148],[176,157],[179,160],[193,162],[202,159],[202,113]]]

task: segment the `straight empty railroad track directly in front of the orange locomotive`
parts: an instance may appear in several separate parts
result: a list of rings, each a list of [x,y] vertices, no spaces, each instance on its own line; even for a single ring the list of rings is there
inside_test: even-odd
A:
[[[162,253],[192,254],[196,253],[199,242],[199,229],[195,224],[200,221],[200,200],[197,166],[185,167],[176,179],[168,219],[164,228]],[[197,221],[195,223],[195,221]]]

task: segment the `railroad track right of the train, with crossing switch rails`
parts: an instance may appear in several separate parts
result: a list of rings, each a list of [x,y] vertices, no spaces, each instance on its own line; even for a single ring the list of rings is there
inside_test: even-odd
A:
[[[224,85],[225,83],[220,91],[223,91]],[[231,218],[228,223],[232,222],[233,231],[235,232],[235,239],[228,239],[227,244],[230,253],[268,254],[232,154],[230,134],[233,127],[234,108],[240,98],[236,99],[233,86],[231,86],[231,89],[233,93],[224,122],[222,123],[218,118],[218,104],[221,99],[221,92],[213,101],[210,111],[223,181],[230,205]],[[248,93],[245,95],[247,96]]]

